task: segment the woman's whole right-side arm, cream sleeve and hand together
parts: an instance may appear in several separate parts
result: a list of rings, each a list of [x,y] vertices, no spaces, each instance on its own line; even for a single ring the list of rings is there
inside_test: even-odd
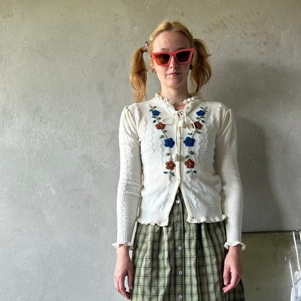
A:
[[[221,126],[216,137],[215,172],[221,179],[221,205],[226,215],[225,247],[228,253],[224,262],[223,292],[236,287],[242,275],[241,223],[243,193],[237,164],[236,126],[231,109],[221,108]]]

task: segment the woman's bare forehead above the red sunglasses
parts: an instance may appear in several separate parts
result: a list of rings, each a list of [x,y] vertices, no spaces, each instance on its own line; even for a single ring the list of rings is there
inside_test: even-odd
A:
[[[186,36],[179,32],[166,31],[157,36],[153,42],[153,52],[159,51],[177,51],[179,49],[190,48],[190,44]]]

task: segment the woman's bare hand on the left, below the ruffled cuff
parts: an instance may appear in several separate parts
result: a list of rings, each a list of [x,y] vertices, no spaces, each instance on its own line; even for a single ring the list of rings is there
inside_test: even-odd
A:
[[[117,260],[114,272],[115,289],[126,299],[129,299],[129,292],[126,291],[124,280],[127,276],[127,284],[130,289],[133,288],[133,266],[129,257],[128,247],[121,245],[116,249]]]

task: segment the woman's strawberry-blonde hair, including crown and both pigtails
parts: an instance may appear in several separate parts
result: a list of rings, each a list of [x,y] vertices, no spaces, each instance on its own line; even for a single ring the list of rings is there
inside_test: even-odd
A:
[[[191,45],[194,48],[194,54],[192,57],[193,69],[190,73],[190,81],[192,89],[195,93],[198,93],[203,85],[205,85],[211,77],[211,66],[209,63],[209,56],[206,44],[199,39],[194,39],[190,31],[177,21],[166,20],[158,25],[155,31],[150,35],[147,44],[148,60],[152,58],[153,43],[163,32],[172,31],[179,32],[186,36]],[[143,59],[143,52],[146,51],[146,47],[137,48],[132,57],[129,71],[129,81],[132,86],[133,96],[135,102],[141,102],[145,96],[146,79],[148,67],[145,65]]]

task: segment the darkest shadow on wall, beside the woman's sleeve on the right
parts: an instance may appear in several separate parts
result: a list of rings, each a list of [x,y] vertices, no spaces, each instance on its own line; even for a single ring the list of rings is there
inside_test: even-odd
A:
[[[245,200],[243,224],[249,225],[251,231],[269,231],[272,225],[281,229],[281,214],[268,177],[264,130],[247,119],[236,119],[239,128],[238,164]]]

